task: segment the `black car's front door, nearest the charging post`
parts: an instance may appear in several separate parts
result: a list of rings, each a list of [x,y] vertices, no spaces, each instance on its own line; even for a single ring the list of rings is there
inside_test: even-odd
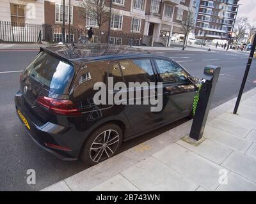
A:
[[[154,59],[158,78],[163,82],[163,114],[166,123],[186,117],[192,110],[196,85],[188,72],[167,59]]]

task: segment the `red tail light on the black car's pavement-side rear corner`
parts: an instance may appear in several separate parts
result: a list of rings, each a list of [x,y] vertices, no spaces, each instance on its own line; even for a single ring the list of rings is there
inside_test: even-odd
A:
[[[69,100],[61,100],[49,98],[47,96],[40,96],[36,99],[36,101],[51,112],[60,115],[81,115],[81,112],[79,112],[77,106]]]

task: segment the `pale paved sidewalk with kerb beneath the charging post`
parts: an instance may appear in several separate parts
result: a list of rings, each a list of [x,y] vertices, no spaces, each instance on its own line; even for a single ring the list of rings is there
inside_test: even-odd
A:
[[[42,191],[256,191],[256,89],[238,115],[235,101],[210,111],[199,145],[182,140],[190,120]]]

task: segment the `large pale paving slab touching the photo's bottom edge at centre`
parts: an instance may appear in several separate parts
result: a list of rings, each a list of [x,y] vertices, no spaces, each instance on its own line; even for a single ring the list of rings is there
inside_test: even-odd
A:
[[[154,157],[148,157],[121,174],[141,191],[195,191],[199,186]]]

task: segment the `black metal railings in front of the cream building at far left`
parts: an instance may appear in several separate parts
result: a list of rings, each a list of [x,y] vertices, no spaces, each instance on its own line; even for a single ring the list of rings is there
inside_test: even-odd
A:
[[[41,37],[42,25],[0,21],[0,41],[35,43]]]

